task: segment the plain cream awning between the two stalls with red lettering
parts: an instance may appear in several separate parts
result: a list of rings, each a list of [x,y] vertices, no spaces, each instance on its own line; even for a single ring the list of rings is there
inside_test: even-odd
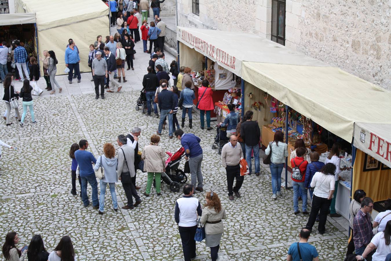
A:
[[[391,124],[391,93],[339,68],[244,61],[242,78],[348,142],[355,122]]]

